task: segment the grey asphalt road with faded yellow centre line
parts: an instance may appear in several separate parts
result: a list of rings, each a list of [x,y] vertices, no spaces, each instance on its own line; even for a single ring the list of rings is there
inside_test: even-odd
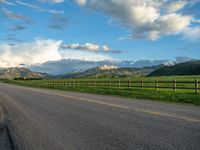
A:
[[[200,150],[200,107],[6,84],[0,100],[17,150]]]

